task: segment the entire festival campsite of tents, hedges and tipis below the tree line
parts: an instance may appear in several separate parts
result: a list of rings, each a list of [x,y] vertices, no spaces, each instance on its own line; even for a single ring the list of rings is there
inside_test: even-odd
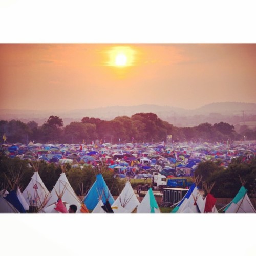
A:
[[[256,144],[1,145],[2,213],[249,213]]]

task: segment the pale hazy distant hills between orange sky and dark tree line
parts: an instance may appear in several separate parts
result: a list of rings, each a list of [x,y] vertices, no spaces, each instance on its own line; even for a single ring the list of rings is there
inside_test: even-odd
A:
[[[129,116],[140,112],[152,112],[162,120],[176,126],[195,126],[202,122],[216,123],[220,121],[236,124],[245,121],[242,118],[256,115],[255,103],[220,102],[204,105],[201,108],[187,110],[172,106],[137,105],[137,106],[108,106],[95,109],[76,109],[69,111],[41,111],[41,110],[9,110],[0,109],[0,120],[21,120],[28,122],[34,120],[39,125],[44,123],[50,115],[62,118],[64,125],[71,121],[81,121],[83,117],[95,117],[102,120],[112,120],[117,116]],[[251,120],[250,121],[256,121]]]

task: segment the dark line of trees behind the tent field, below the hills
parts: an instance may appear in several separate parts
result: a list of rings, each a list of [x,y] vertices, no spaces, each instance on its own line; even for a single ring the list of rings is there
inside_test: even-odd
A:
[[[256,130],[244,125],[240,133],[234,126],[225,122],[215,124],[202,123],[194,127],[176,127],[161,120],[154,113],[137,113],[118,116],[106,121],[94,117],[83,117],[80,122],[71,122],[64,126],[58,116],[38,126],[35,121],[24,123],[20,120],[1,120],[0,134],[5,135],[5,142],[28,144],[39,143],[156,143],[166,142],[166,136],[172,135],[174,142],[221,142],[232,140],[255,140]]]

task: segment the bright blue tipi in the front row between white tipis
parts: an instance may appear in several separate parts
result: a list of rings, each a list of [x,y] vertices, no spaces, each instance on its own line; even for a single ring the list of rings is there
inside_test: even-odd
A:
[[[112,205],[115,201],[102,177],[102,174],[98,174],[96,176],[96,181],[84,198],[84,204],[86,205],[88,210],[93,210],[98,204],[99,199],[102,200],[103,204],[105,204],[108,200]]]

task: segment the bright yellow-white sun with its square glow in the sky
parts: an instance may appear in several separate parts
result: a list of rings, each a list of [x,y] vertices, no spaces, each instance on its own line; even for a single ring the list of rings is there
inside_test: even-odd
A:
[[[134,65],[135,51],[129,46],[114,46],[108,50],[108,66],[127,67]]]

